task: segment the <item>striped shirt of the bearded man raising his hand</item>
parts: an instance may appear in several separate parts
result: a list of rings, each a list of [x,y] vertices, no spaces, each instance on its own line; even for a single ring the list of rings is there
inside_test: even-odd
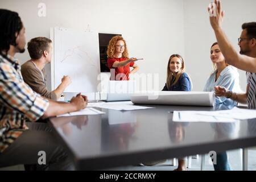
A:
[[[249,109],[256,109],[256,73],[246,72],[247,84],[249,84],[249,92],[247,97],[247,105]]]

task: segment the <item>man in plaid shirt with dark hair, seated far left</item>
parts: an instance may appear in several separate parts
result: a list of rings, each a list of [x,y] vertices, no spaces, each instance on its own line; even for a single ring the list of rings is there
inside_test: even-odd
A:
[[[73,169],[47,123],[39,118],[84,109],[87,97],[78,94],[70,103],[51,101],[24,83],[15,53],[23,53],[25,28],[18,13],[0,9],[0,167],[33,164],[36,169]],[[26,120],[31,122],[26,123]],[[40,151],[46,163],[38,164]]]

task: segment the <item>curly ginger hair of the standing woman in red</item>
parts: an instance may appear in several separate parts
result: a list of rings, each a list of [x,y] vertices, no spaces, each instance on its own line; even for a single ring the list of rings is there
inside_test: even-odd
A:
[[[128,56],[128,50],[127,50],[127,46],[126,46],[126,41],[125,39],[122,38],[122,36],[114,36],[110,41],[109,41],[109,46],[108,46],[108,51],[107,51],[107,55],[108,58],[113,58],[114,57],[114,53],[115,53],[115,44],[117,44],[117,42],[119,40],[122,40],[125,43],[125,51],[123,51],[122,53],[122,57],[129,57]]]

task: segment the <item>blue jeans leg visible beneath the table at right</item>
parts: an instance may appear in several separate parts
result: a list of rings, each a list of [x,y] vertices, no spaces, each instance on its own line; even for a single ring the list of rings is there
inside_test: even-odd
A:
[[[217,164],[213,164],[215,171],[232,171],[226,151],[217,153],[216,162],[217,162]]]

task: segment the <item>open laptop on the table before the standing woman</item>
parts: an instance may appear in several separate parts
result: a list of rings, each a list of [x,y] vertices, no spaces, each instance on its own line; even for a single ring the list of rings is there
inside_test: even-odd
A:
[[[102,101],[130,101],[135,87],[135,81],[109,81],[106,99]]]

